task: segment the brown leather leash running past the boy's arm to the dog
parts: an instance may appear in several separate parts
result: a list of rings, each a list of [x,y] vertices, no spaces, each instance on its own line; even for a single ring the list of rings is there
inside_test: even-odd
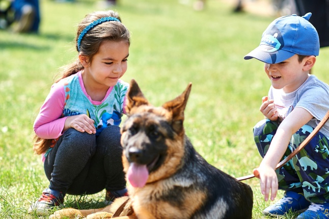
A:
[[[294,151],[289,154],[286,158],[284,158],[276,167],[276,169],[281,168],[283,165],[285,165],[293,156],[295,156],[301,149],[303,149],[310,141],[313,139],[313,137],[319,132],[319,130],[323,127],[323,125],[328,121],[329,119],[329,111],[324,115],[323,119],[320,121],[320,123],[315,127],[315,129],[311,132],[309,136],[302,142]],[[247,175],[247,176],[241,176],[236,178],[239,181],[243,181],[246,179],[254,178],[255,175]]]

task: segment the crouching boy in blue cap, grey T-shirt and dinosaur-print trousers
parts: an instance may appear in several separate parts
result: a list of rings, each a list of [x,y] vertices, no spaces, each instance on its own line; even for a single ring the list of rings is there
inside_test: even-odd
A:
[[[329,218],[329,123],[280,170],[288,156],[312,132],[329,109],[329,86],[309,74],[319,54],[319,37],[303,17],[284,16],[264,31],[260,45],[244,59],[258,59],[271,81],[260,111],[266,117],[254,127],[254,139],[263,157],[254,175],[260,179],[265,201],[284,197],[263,214],[279,216],[303,212],[301,218]]]

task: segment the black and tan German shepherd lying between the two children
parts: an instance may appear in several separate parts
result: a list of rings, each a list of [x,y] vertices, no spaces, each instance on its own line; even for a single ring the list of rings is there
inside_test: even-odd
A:
[[[62,209],[50,218],[94,212],[87,218],[110,218],[126,199],[118,218],[252,218],[250,186],[211,166],[185,135],[190,90],[191,84],[177,98],[154,107],[131,80],[128,118],[121,128],[129,198],[116,199],[104,209]]]

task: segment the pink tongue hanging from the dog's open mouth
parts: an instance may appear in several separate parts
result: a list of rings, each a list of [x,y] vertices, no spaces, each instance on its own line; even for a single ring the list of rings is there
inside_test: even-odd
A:
[[[128,180],[133,187],[143,187],[149,177],[149,171],[146,165],[130,163],[128,169]]]

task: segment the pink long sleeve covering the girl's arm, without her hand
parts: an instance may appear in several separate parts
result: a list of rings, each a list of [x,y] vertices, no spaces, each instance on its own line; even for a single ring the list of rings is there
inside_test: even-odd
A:
[[[50,92],[40,108],[34,122],[35,133],[42,139],[57,139],[62,135],[66,117],[61,118],[65,103],[62,84],[51,86]]]

